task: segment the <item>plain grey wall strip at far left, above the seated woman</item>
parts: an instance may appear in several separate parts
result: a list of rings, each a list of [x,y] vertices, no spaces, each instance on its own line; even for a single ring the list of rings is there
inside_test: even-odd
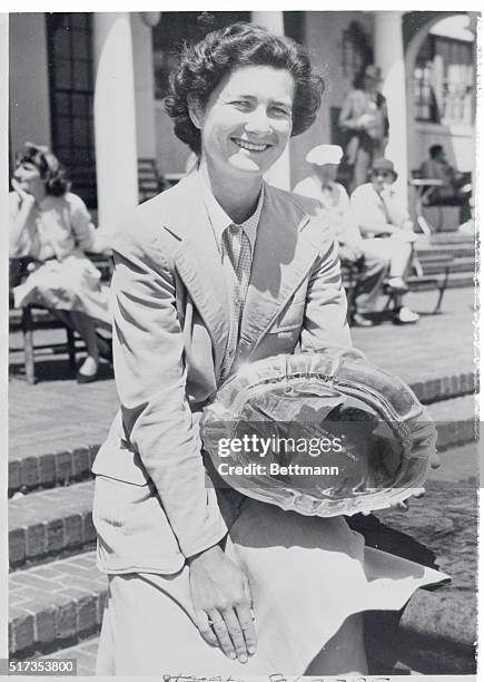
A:
[[[46,16],[10,14],[11,154],[26,140],[50,146]]]

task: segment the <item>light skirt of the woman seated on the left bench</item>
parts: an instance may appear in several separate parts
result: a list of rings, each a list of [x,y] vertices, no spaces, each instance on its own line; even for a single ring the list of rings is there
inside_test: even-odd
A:
[[[46,261],[13,289],[13,296],[16,308],[39,303],[52,310],[79,311],[111,327],[109,286],[101,283],[99,270],[83,253]]]

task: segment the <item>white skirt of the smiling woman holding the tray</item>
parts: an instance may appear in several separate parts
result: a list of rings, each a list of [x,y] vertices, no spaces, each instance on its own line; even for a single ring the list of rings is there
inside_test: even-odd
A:
[[[443,573],[365,547],[343,517],[304,517],[246,500],[227,555],[249,578],[257,653],[246,664],[201,639],[189,569],[109,578],[97,674],[302,675],[346,618],[401,610]]]

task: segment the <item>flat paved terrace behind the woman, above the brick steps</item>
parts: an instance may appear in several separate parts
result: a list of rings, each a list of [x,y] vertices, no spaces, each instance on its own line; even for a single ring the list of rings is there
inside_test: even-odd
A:
[[[408,304],[421,313],[431,311],[435,292],[408,295]],[[472,372],[474,368],[474,292],[446,292],[441,315],[423,315],[416,325],[384,323],[354,329],[355,347],[369,360],[413,383],[444,374]],[[39,343],[63,341],[60,330],[36,332]],[[115,381],[108,366],[101,379],[78,386],[65,357],[47,355],[36,363],[39,383],[26,383],[22,372],[22,339],[10,334],[9,421],[11,459],[96,445],[106,437],[117,410]]]

